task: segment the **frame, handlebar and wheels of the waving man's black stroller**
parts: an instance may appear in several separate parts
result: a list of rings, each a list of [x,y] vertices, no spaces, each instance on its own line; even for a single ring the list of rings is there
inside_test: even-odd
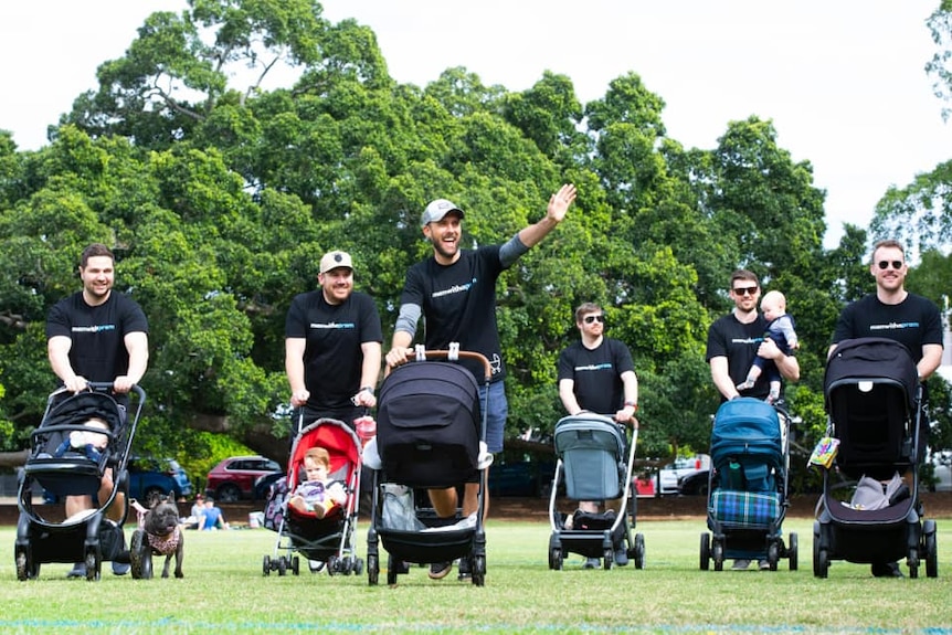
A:
[[[425,350],[422,346],[417,346],[416,350],[408,353],[411,360],[404,367],[411,364],[426,363],[427,360],[447,360],[455,362],[461,359],[470,359],[478,361],[484,368],[484,382],[486,387],[486,396],[483,400],[480,408],[478,438],[479,442],[486,441],[486,416],[488,412],[489,401],[489,381],[493,377],[493,367],[485,356],[473,351],[463,351],[458,349],[458,345],[451,343],[449,350]],[[455,366],[455,364],[452,364]],[[404,367],[398,367],[393,374],[401,372]],[[462,367],[457,367],[461,368]],[[465,369],[464,369],[465,370]],[[473,380],[476,387],[475,378],[465,371],[465,375]],[[381,404],[387,395],[387,379],[380,390]],[[478,403],[478,400],[477,400]],[[380,417],[380,405],[378,406],[378,417]],[[378,438],[381,431],[381,420],[378,420]],[[381,452],[383,457],[383,453]],[[385,463],[385,458],[384,458]],[[384,469],[373,470],[373,494],[370,528],[367,531],[367,575],[368,584],[374,586],[379,582],[380,574],[380,542],[388,551],[388,568],[387,583],[388,585],[396,584],[396,576],[400,573],[408,573],[406,564],[416,562],[421,564],[433,562],[452,561],[457,558],[468,558],[470,565],[472,582],[476,586],[483,586],[486,580],[486,530],[484,527],[485,514],[485,496],[486,496],[486,469],[478,469],[478,490],[477,490],[477,509],[476,523],[474,527],[462,529],[444,529],[441,531],[426,531],[441,525],[445,519],[436,517],[433,509],[417,509],[417,519],[426,527],[421,531],[408,531],[402,529],[393,529],[383,526],[383,502],[385,497],[381,496],[384,484],[389,480],[381,480]],[[393,483],[400,484],[400,479]],[[410,487],[419,487],[420,484],[404,483]],[[430,487],[430,485],[423,486]],[[456,510],[456,519],[459,519],[459,508]]]

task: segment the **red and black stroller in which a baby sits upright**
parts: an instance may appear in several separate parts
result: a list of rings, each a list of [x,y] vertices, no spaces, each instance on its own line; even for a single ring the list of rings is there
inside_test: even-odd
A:
[[[300,559],[295,553],[304,555],[308,561],[324,562],[327,573],[335,575],[341,573],[350,575],[355,573],[360,575],[363,573],[363,560],[357,557],[357,549],[353,541],[353,531],[357,525],[357,515],[360,506],[360,470],[362,463],[360,461],[360,440],[357,434],[348,427],[346,423],[336,419],[320,417],[307,425],[304,425],[305,410],[302,409],[297,434],[290,448],[288,457],[288,469],[285,475],[286,496],[281,505],[281,521],[277,531],[277,540],[275,540],[273,555],[265,555],[262,563],[262,570],[265,575],[269,575],[272,571],[277,571],[278,575],[285,575],[288,570],[294,575],[300,573]],[[319,435],[322,431],[332,431],[328,434],[337,436],[331,440],[341,441],[348,440],[352,447],[334,447],[334,455],[348,454],[346,467],[350,468],[347,475],[345,487],[347,489],[347,502],[343,508],[339,509],[334,516],[327,518],[307,518],[294,511],[288,501],[298,485],[298,468],[304,464],[303,455],[299,457],[299,445],[303,440],[310,435]],[[308,446],[314,447],[314,446]],[[306,451],[307,448],[305,448]],[[347,451],[352,449],[352,455]],[[299,461],[298,461],[299,458]],[[331,456],[331,465],[335,457]],[[335,472],[339,472],[338,468]],[[332,473],[331,476],[335,474]],[[279,483],[279,481],[278,481]],[[278,495],[277,484],[272,486],[271,500]],[[320,565],[313,565],[308,562],[311,573],[320,571]]]

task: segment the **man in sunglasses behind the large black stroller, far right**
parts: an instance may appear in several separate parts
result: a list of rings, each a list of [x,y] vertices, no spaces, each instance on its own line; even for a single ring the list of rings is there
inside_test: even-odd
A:
[[[872,247],[869,273],[876,279],[876,293],[867,294],[849,304],[839,314],[833,331],[833,343],[860,337],[893,339],[909,349],[919,380],[922,383],[922,402],[928,402],[925,380],[942,362],[942,318],[939,307],[929,298],[906,290],[906,250],[895,240],[879,241]],[[920,447],[925,446],[928,428],[920,430]],[[901,578],[896,562],[874,562],[876,578]]]

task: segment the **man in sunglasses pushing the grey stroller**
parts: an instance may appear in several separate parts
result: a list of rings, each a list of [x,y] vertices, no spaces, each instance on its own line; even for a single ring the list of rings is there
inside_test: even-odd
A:
[[[570,415],[589,411],[611,416],[618,423],[637,425],[638,378],[628,347],[604,337],[605,314],[596,304],[575,309],[575,327],[581,340],[559,356],[559,399]],[[599,500],[580,500],[579,511],[597,514]],[[624,514],[622,499],[605,501],[605,509]],[[615,546],[615,564],[628,563],[624,544]],[[586,569],[597,569],[597,558],[589,558]]]

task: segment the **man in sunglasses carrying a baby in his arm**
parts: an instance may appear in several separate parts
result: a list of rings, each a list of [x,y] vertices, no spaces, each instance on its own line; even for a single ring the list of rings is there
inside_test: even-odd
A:
[[[738,390],[738,384],[747,380],[748,369],[758,358],[773,360],[781,378],[787,381],[800,380],[800,362],[793,354],[784,354],[776,343],[764,337],[768,320],[758,313],[760,281],[757,274],[738,269],[730,276],[730,297],[734,308],[718,318],[708,329],[707,353],[705,358],[711,368],[711,380],[721,401],[739,396],[766,400],[770,396],[770,381],[762,373],[752,388]],[[781,388],[781,399],[783,389]],[[743,570],[750,560],[736,559],[733,569]],[[766,560],[759,562],[760,569],[769,569]]]

